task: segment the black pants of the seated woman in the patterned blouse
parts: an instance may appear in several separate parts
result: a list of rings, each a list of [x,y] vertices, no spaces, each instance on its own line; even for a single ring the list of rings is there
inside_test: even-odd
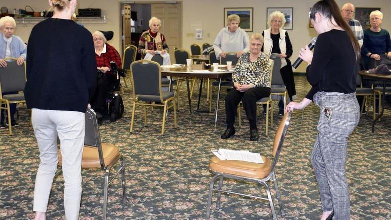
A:
[[[249,119],[250,129],[257,129],[257,101],[263,97],[268,97],[269,95],[269,87],[251,88],[246,92],[239,92],[235,88],[231,89],[225,98],[227,128],[234,127],[238,105],[240,101],[242,101],[247,119]]]

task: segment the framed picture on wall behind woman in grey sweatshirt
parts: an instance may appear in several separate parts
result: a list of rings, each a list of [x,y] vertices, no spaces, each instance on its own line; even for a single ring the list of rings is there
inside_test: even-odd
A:
[[[253,32],[253,8],[224,8],[224,27],[227,26],[227,17],[233,14],[239,16],[241,29]]]

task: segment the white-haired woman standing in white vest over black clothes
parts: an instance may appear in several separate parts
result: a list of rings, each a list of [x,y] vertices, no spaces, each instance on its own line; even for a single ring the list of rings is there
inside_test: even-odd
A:
[[[269,15],[268,26],[269,29],[263,31],[265,43],[263,44],[262,52],[267,55],[276,53],[281,57],[281,76],[285,87],[288,91],[289,99],[292,101],[296,97],[295,81],[293,78],[292,65],[289,57],[292,56],[293,49],[291,41],[289,40],[288,32],[283,30],[285,25],[285,16],[279,11],[275,11]],[[280,100],[279,114],[284,114],[284,104]]]

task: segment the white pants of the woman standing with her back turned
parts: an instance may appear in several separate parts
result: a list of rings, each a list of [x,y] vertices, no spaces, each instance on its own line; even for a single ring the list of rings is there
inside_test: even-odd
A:
[[[85,114],[76,111],[32,110],[40,165],[35,179],[34,211],[46,212],[53,177],[57,169],[57,135],[61,143],[64,175],[64,206],[67,220],[78,219],[81,200],[81,161]]]

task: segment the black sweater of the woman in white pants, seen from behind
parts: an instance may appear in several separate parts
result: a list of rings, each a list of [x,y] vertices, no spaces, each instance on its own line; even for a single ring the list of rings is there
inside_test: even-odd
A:
[[[28,108],[85,112],[96,86],[91,33],[72,20],[47,19],[27,47]]]

